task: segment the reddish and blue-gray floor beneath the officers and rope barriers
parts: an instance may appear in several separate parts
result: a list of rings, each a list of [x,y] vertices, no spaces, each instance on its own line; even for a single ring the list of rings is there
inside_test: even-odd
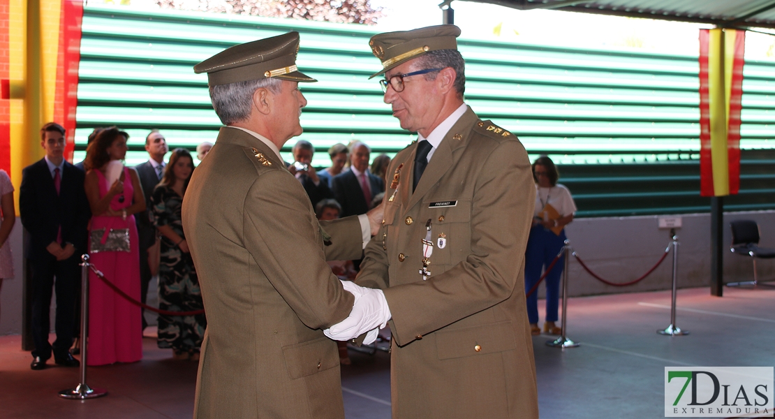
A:
[[[571,299],[568,335],[580,347],[533,338],[541,417],[664,417],[665,366],[773,366],[775,288],[724,291],[679,290],[677,325],[690,335],[677,337],[656,334],[670,323],[667,291]],[[174,362],[155,343],[144,339],[141,362],[88,369],[88,383],[109,394],[76,401],[57,393],[78,383],[78,369],[31,371],[19,336],[0,337],[0,417],[191,417],[196,365]],[[342,372],[347,419],[389,418],[387,353],[350,355]]]

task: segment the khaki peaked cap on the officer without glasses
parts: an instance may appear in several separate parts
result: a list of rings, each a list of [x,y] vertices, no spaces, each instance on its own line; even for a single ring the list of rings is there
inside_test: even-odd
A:
[[[226,48],[194,66],[207,73],[210,86],[277,77],[287,81],[317,81],[296,67],[298,32],[259,39]]]

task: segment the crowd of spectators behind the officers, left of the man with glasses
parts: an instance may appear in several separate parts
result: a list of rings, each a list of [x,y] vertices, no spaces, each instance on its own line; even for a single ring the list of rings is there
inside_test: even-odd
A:
[[[74,346],[81,312],[78,263],[84,253],[104,276],[90,272],[88,364],[135,362],[143,356],[146,317],[140,307],[103,280],[145,304],[151,278],[157,276],[161,311],[203,311],[181,223],[181,206],[195,160],[187,149],[170,153],[164,135],[153,129],[145,140],[148,160],[126,167],[129,134],[112,126],[91,132],[84,161],[71,164],[64,159],[66,134],[55,122],[43,125],[40,145],[45,156],[25,168],[19,191],[22,225],[30,233],[31,245],[25,253],[33,283],[31,368],[46,368],[52,355],[60,366],[80,365],[72,354],[78,350],[78,344]],[[212,146],[207,142],[197,146],[199,161]],[[294,161],[287,166],[307,192],[317,218],[365,214],[381,202],[390,157],[375,157],[369,168],[367,144],[335,144],[328,150],[331,166],[316,170],[314,153],[311,143],[298,141],[292,149]],[[6,245],[15,222],[13,192],[8,174],[0,170],[0,286],[2,278],[13,276],[10,246]],[[340,279],[353,280],[359,263],[332,261],[329,266]],[[50,344],[53,290],[57,339]],[[207,327],[203,312],[159,314],[157,325],[160,348],[172,349],[174,359],[198,360]],[[341,346],[341,361],[350,363],[346,345]]]

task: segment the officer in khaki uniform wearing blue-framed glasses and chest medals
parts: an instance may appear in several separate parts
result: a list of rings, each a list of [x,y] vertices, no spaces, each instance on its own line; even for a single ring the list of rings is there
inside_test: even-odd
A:
[[[419,138],[390,164],[384,225],[356,278],[387,308],[353,290],[363,294],[353,315],[373,321],[326,332],[352,337],[392,317],[395,418],[538,417],[524,287],[530,162],[514,134],[463,103],[459,35],[444,25],[370,40],[384,101]]]

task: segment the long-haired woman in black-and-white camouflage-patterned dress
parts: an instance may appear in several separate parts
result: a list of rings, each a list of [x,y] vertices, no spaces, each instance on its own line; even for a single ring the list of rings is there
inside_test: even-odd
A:
[[[164,177],[151,196],[153,224],[161,233],[159,308],[162,310],[198,311],[204,307],[181,222],[183,195],[193,171],[194,160],[188,150],[172,150]],[[159,348],[172,348],[174,359],[198,361],[206,325],[205,314],[159,314]]]

